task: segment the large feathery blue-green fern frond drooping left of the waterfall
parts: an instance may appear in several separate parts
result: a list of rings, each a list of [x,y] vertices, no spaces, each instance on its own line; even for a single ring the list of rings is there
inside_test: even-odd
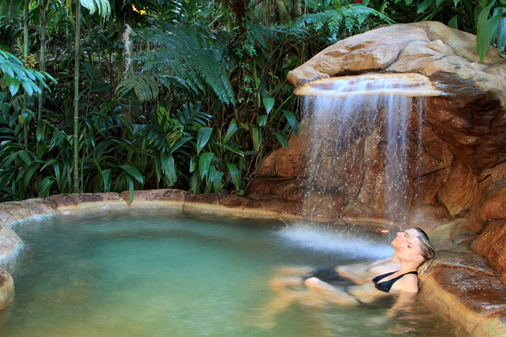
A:
[[[225,45],[208,29],[198,25],[157,22],[157,26],[137,30],[136,39],[156,46],[138,55],[145,72],[154,72],[167,88],[179,88],[197,94],[210,87],[218,99],[235,104],[235,95],[227,71],[230,61]]]

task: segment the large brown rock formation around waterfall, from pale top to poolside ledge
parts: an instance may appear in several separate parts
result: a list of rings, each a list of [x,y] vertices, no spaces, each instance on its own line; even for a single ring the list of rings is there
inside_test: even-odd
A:
[[[440,225],[430,235],[437,258],[421,277],[424,300],[473,334],[500,335],[506,333],[506,60],[490,47],[481,63],[475,42],[474,35],[438,22],[377,28],[327,47],[288,80],[299,87],[350,74],[419,73],[446,92],[425,99],[421,134],[409,131],[423,152],[416,154],[421,165],[408,169],[410,212],[403,226]],[[289,147],[264,160],[246,196],[300,200],[309,141],[304,127],[303,120]],[[382,141],[381,133],[365,139],[364,150],[348,158],[365,166],[355,175],[361,180],[336,184],[339,209],[321,214],[341,221],[381,217],[375,196],[384,186],[373,165],[382,162],[374,153]],[[361,189],[344,189],[353,185]]]

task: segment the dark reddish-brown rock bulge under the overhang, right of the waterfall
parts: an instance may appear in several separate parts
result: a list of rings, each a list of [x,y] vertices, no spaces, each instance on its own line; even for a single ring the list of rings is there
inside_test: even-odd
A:
[[[499,98],[455,74],[434,73],[431,80],[445,83],[451,97],[427,100],[427,123],[438,137],[475,174],[501,163],[506,117]]]

